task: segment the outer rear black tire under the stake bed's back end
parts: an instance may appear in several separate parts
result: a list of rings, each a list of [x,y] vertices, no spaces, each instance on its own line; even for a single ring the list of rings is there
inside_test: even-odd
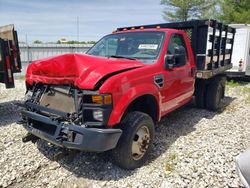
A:
[[[221,99],[225,92],[223,77],[213,79],[208,85],[206,96],[206,107],[208,110],[216,111],[221,107]]]

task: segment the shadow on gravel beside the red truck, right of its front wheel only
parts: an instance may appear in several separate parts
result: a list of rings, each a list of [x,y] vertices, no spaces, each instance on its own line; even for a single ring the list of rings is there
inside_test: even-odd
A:
[[[232,97],[224,97],[221,108],[218,111],[208,111],[196,107],[194,101],[183,106],[162,118],[156,127],[154,149],[151,152],[151,161],[164,153],[179,137],[186,136],[196,130],[196,124],[202,119],[213,119],[215,115],[224,110],[235,100]],[[149,160],[150,162],[150,160]]]

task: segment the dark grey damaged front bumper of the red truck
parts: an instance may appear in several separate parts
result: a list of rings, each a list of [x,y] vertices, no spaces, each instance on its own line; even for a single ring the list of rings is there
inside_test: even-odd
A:
[[[107,151],[116,147],[122,134],[120,129],[86,128],[27,110],[21,113],[29,133],[67,149]]]

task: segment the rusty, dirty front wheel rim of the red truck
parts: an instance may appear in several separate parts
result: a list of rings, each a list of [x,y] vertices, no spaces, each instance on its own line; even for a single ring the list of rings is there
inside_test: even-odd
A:
[[[137,130],[133,138],[132,157],[134,160],[139,160],[145,155],[149,147],[149,141],[149,129],[144,125]]]

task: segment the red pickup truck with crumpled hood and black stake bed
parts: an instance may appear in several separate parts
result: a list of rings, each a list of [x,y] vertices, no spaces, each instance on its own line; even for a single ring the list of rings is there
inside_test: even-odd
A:
[[[86,55],[33,62],[26,74],[24,141],[111,150],[120,167],[140,167],[164,115],[193,96],[198,107],[219,108],[234,34],[215,20],[118,28]]]

